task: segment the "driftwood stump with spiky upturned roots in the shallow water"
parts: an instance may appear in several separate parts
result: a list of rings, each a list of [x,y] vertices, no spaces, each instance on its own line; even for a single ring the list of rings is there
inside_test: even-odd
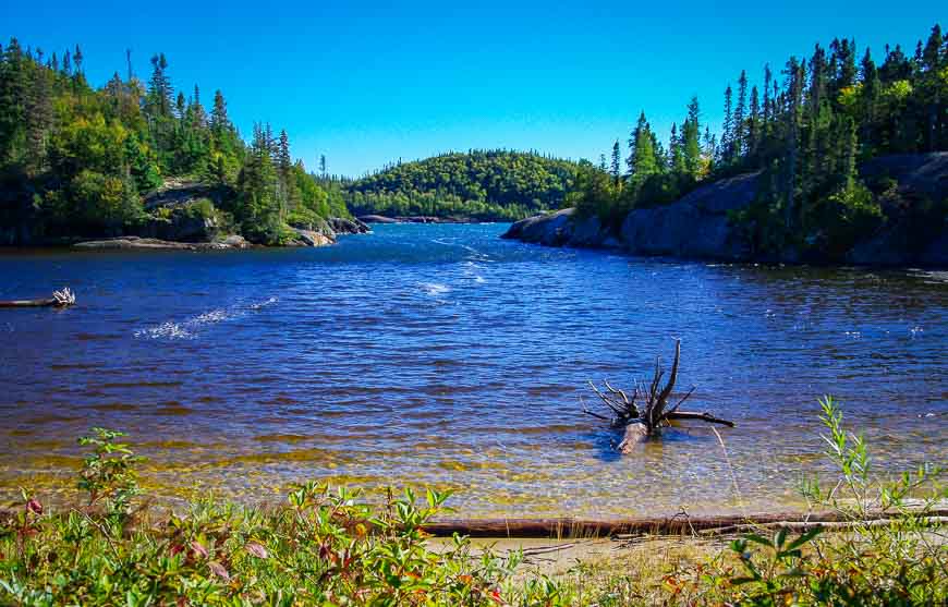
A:
[[[636,444],[658,436],[663,427],[670,425],[674,421],[697,420],[710,424],[734,426],[733,422],[716,417],[710,413],[679,411],[682,403],[694,392],[694,387],[679,399],[674,405],[669,405],[671,391],[674,389],[674,383],[678,380],[680,360],[681,340],[674,340],[674,361],[671,363],[671,372],[665,387],[661,387],[665,371],[661,368],[661,360],[659,357],[655,360],[655,374],[652,377],[652,381],[647,386],[644,381],[637,381],[631,394],[625,390],[613,388],[608,381],[603,383],[603,390],[590,381],[590,387],[593,388],[599,400],[609,409],[611,415],[595,413],[585,406],[583,411],[598,420],[609,422],[615,428],[624,430],[622,441],[618,446],[620,452],[628,453]]]

